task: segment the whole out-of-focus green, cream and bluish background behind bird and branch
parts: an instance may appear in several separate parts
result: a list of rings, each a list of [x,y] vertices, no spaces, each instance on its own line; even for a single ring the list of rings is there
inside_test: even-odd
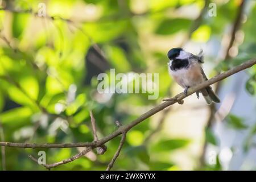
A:
[[[208,77],[255,57],[253,0],[0,2],[1,141],[92,141],[90,110],[99,137],[112,133],[115,121],[130,123],[183,91],[168,75],[166,53],[173,47],[203,49]],[[46,17],[39,17],[44,5]],[[97,75],[110,68],[159,73],[159,98],[98,93]],[[213,85],[221,104],[208,106],[193,94],[134,127],[113,169],[256,169],[255,74],[254,66]],[[120,139],[106,143],[104,155],[92,151],[54,170],[104,170]],[[40,150],[47,163],[82,150],[1,149],[7,170],[45,170],[27,157]]]

